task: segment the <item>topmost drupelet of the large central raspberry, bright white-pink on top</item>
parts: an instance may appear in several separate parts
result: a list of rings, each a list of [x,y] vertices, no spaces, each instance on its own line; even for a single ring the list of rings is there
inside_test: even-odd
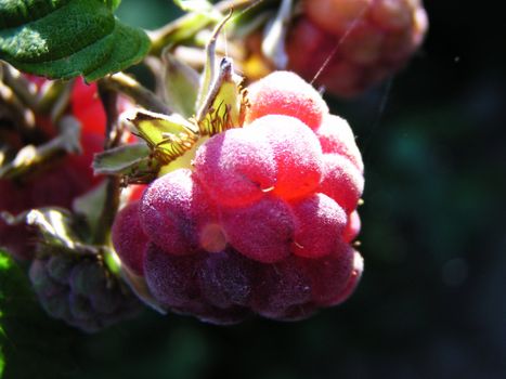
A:
[[[267,115],[285,115],[298,118],[314,130],[328,113],[320,93],[289,71],[274,71],[250,84],[247,99],[245,123]]]

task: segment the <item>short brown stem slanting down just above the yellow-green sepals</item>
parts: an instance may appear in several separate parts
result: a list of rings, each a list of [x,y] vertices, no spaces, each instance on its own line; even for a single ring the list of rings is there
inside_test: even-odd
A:
[[[172,113],[172,109],[158,99],[156,94],[126,74],[114,74],[102,78],[100,82],[104,90],[122,93],[132,99],[135,104],[139,104],[148,110],[166,115],[170,115]]]

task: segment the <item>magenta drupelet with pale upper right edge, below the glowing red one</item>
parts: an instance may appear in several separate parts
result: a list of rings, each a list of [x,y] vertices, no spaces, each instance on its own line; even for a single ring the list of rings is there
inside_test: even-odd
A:
[[[341,207],[324,194],[293,204],[297,219],[294,253],[306,258],[329,254],[340,241],[347,217]]]

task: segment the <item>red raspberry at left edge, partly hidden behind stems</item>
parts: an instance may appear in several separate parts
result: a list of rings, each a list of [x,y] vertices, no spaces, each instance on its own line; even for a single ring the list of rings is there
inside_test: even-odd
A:
[[[43,79],[33,77],[39,87]],[[18,214],[41,207],[70,208],[73,200],[85,194],[101,178],[94,177],[91,168],[93,155],[103,148],[105,113],[96,95],[96,84],[87,86],[76,81],[72,92],[73,115],[81,122],[82,154],[55,157],[50,165],[18,180],[0,180],[0,211]],[[47,121],[47,120],[46,120]],[[44,120],[38,120],[44,122]],[[46,128],[54,132],[54,126]],[[25,225],[9,226],[0,219],[0,246],[18,259],[34,256],[33,234]]]

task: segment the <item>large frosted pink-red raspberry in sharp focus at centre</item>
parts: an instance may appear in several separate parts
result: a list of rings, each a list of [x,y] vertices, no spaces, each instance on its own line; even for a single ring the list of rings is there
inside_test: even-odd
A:
[[[287,71],[247,101],[243,128],[210,138],[193,171],[155,180],[113,226],[159,303],[216,324],[304,318],[343,301],[362,273],[350,241],[363,164],[348,123]]]

